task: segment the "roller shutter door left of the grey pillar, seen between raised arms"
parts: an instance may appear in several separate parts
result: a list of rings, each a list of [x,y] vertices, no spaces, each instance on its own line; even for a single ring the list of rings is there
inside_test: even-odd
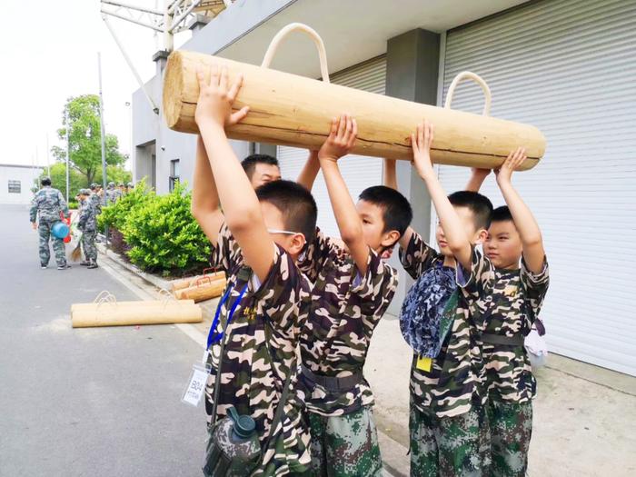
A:
[[[352,66],[332,75],[333,84],[384,94],[386,83],[386,58],[379,56],[360,65]],[[326,128],[326,125],[325,125]],[[278,147],[278,160],[283,178],[295,180],[307,160],[307,151],[288,146]],[[343,177],[353,198],[371,185],[382,184],[382,159],[350,155],[339,162]],[[313,185],[313,196],[318,204],[318,225],[328,235],[340,236],[329,202],[323,174],[318,174]]]

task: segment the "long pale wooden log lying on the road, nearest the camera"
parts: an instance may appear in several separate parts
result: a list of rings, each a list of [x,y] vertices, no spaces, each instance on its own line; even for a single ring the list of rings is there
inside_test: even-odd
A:
[[[181,302],[89,303],[71,311],[74,328],[123,326],[131,324],[200,323],[203,312],[198,304]]]

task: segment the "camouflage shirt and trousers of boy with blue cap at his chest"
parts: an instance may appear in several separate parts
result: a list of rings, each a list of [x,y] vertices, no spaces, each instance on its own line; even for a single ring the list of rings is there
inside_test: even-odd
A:
[[[473,253],[479,255],[479,253]],[[432,273],[443,256],[413,233],[400,250],[404,270],[419,279]],[[417,354],[411,366],[411,475],[487,475],[490,436],[485,412],[483,363],[479,336],[482,323],[469,310],[468,293],[477,279],[486,280],[490,270],[472,267],[471,283],[464,283],[452,313],[451,330],[432,358],[431,368],[418,369]],[[481,282],[480,282],[481,283]],[[434,283],[432,283],[434,285]],[[440,299],[448,293],[438,293]]]

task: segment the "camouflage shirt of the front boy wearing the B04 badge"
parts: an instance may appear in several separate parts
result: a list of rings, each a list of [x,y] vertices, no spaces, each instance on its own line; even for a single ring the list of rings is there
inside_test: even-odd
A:
[[[224,269],[228,287],[231,287],[229,298],[221,308],[217,332],[223,331],[229,311],[247,284],[224,333],[217,417],[224,417],[229,406],[241,414],[251,415],[263,444],[270,436],[285,379],[289,373],[294,374],[282,422],[274,430],[277,437],[268,449],[263,449],[263,463],[253,475],[304,472],[311,462],[303,402],[299,401],[295,387],[298,339],[309,313],[312,285],[283,248],[276,246],[274,252],[272,270],[259,285],[243,262],[241,249],[226,225],[222,226],[213,251],[213,264]],[[212,421],[220,351],[220,342],[215,343],[208,360],[212,366],[205,389],[208,422]]]

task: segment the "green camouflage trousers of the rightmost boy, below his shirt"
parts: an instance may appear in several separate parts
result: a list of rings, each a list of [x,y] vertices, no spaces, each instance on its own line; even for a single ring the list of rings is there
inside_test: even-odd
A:
[[[490,401],[492,476],[523,477],[532,436],[532,402]]]

